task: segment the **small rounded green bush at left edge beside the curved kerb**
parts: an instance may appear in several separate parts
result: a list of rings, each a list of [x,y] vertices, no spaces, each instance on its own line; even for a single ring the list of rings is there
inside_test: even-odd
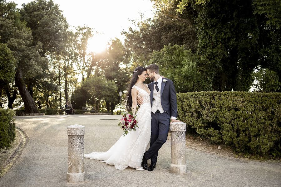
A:
[[[0,109],[0,149],[11,146],[16,137],[15,111],[12,109]]]

